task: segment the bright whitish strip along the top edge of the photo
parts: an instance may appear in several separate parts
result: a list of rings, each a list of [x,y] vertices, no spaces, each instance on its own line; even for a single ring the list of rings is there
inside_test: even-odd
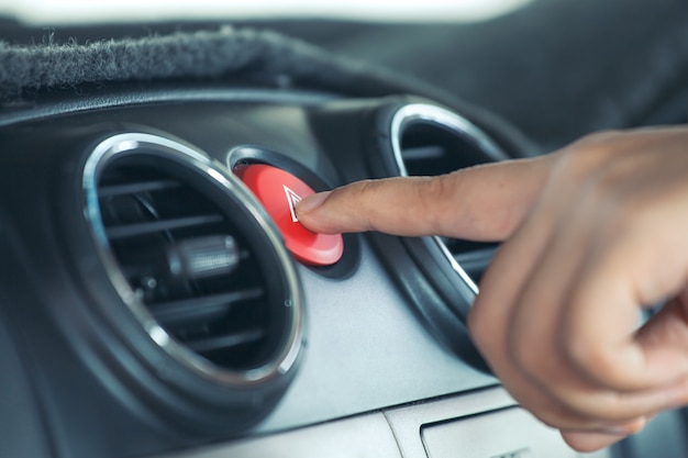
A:
[[[209,18],[329,18],[364,21],[476,21],[518,9],[530,0],[366,1],[96,1],[3,0],[5,13],[26,22],[74,23]]]

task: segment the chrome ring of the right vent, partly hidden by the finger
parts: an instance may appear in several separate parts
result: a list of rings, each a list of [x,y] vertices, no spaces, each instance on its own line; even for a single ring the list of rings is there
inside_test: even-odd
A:
[[[408,177],[408,170],[401,155],[401,137],[404,130],[417,122],[436,124],[439,127],[471,142],[477,148],[492,158],[503,157],[503,153],[489,136],[487,136],[478,126],[467,119],[441,107],[426,103],[411,103],[397,110],[391,120],[390,138],[391,148],[395,156],[395,163],[399,169],[399,175]],[[450,262],[452,269],[459,278],[475,292],[478,293],[478,286],[466,273],[464,268],[454,259],[454,256],[445,245],[445,243],[436,236],[432,239],[437,245],[444,257]]]

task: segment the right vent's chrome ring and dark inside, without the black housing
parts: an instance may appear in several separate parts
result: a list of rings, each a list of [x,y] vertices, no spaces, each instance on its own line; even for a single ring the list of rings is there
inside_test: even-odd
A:
[[[436,176],[478,164],[506,159],[501,149],[476,125],[430,104],[409,104],[392,118],[391,142],[402,176]],[[493,256],[495,244],[435,238],[456,271],[477,291]]]

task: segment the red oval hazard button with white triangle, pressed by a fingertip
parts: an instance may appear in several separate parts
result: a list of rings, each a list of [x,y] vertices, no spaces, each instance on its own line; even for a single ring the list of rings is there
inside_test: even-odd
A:
[[[277,223],[287,248],[293,256],[313,266],[329,266],[342,257],[342,235],[315,234],[303,227],[296,215],[296,204],[315,193],[293,175],[265,164],[240,166],[236,176],[253,191]]]

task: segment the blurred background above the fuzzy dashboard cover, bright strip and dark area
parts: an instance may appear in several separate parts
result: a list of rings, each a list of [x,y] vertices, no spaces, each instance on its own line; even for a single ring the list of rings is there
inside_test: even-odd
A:
[[[418,78],[544,150],[686,121],[686,0],[0,0],[0,38],[87,43],[223,24],[270,29]]]

